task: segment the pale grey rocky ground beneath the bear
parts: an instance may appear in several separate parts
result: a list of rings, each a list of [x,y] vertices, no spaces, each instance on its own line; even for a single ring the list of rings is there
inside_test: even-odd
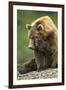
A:
[[[26,74],[17,74],[18,80],[29,80],[29,79],[47,79],[47,78],[57,78],[58,77],[58,69],[46,69],[40,72],[32,71]]]

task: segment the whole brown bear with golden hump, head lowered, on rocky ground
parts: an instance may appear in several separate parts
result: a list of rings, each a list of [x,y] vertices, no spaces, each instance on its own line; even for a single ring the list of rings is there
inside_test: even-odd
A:
[[[43,70],[58,66],[57,28],[49,16],[27,24],[29,48],[34,51],[35,58],[18,66],[20,73]]]

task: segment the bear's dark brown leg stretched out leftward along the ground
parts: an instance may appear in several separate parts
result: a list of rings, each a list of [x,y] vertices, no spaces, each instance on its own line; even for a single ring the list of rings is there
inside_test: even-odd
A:
[[[30,72],[30,71],[34,71],[37,70],[37,65],[35,62],[35,59],[32,59],[26,63],[24,63],[23,65],[18,65],[17,66],[17,71],[21,74]]]

